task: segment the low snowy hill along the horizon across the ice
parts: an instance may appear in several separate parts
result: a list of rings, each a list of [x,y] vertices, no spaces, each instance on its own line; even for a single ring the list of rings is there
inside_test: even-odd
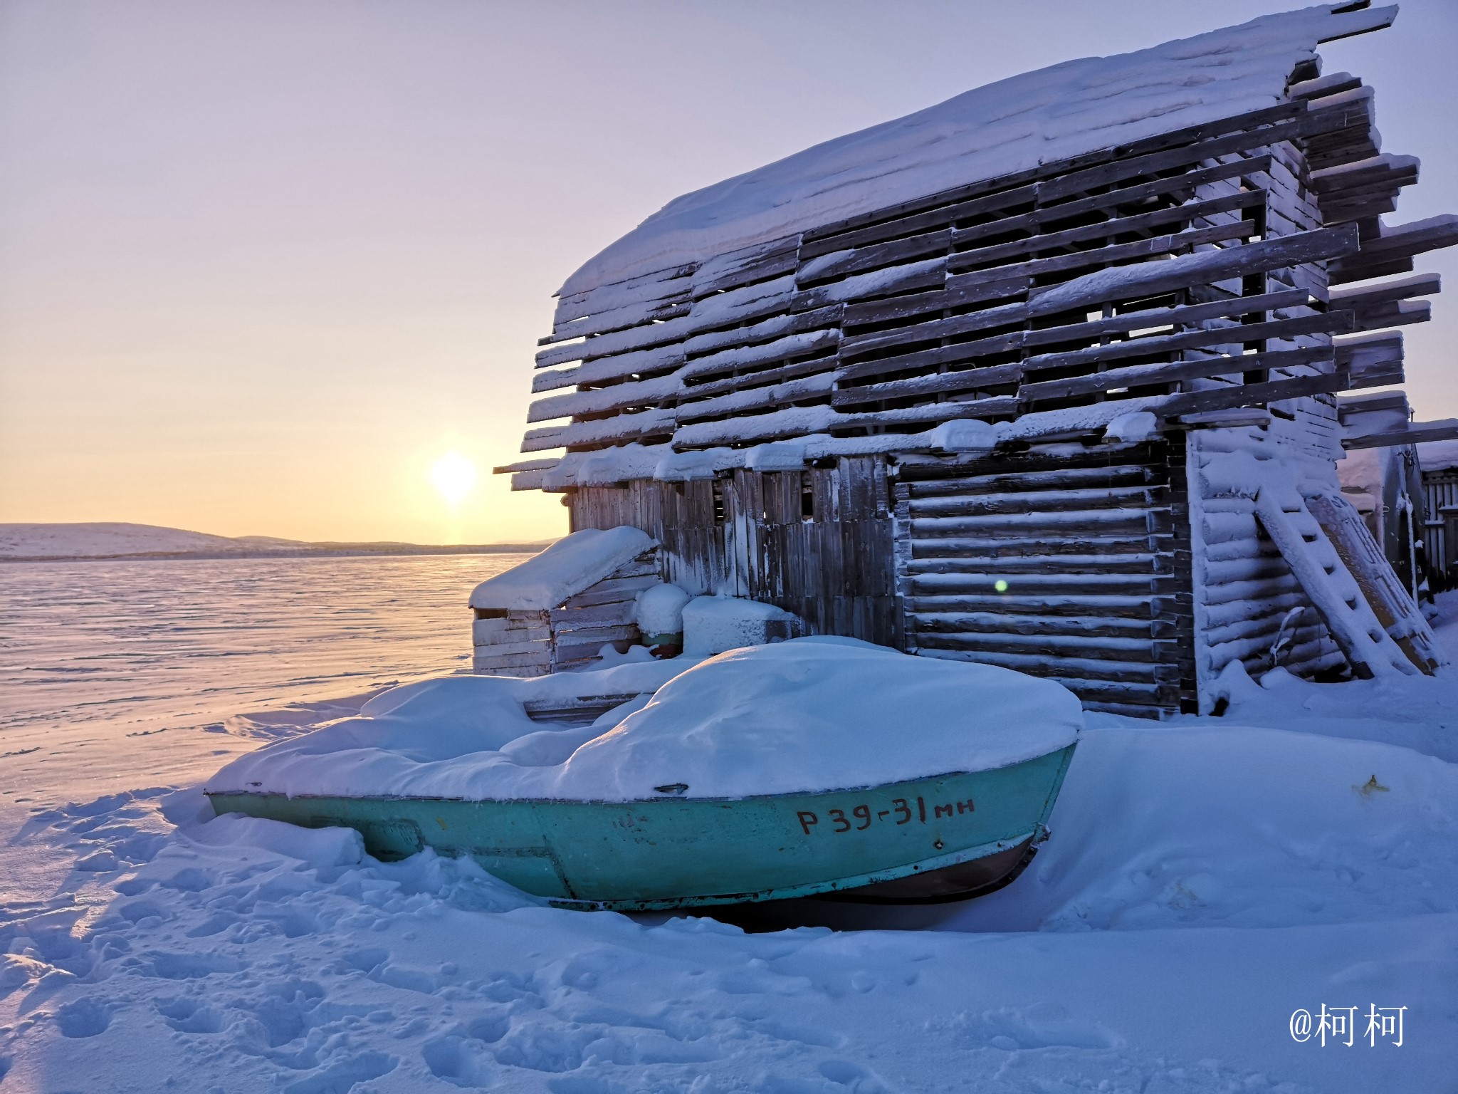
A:
[[[0,562],[61,559],[227,559],[348,554],[535,553],[551,543],[306,543],[273,535],[208,535],[152,524],[0,524]]]

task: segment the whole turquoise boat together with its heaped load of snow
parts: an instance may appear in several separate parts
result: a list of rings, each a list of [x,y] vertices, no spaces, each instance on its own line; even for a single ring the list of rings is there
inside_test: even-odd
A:
[[[1016,877],[1082,725],[1051,681],[814,637],[710,658],[588,726],[525,713],[569,677],[621,694],[669,667],[394,688],[207,794],[357,829],[378,858],[471,856],[566,907],[945,900]]]

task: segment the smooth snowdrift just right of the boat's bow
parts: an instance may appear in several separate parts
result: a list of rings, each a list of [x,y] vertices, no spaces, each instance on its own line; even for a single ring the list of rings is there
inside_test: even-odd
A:
[[[958,928],[1279,928],[1458,912],[1458,766],[1391,744],[1120,719],[1083,734],[1048,827],[1022,880],[967,904]]]

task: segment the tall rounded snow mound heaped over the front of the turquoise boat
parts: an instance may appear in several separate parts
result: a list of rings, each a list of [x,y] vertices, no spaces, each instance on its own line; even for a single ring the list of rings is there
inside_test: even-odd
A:
[[[1077,697],[993,665],[805,637],[674,677],[567,761],[563,785],[614,799],[739,798],[872,786],[1031,760],[1072,744]]]

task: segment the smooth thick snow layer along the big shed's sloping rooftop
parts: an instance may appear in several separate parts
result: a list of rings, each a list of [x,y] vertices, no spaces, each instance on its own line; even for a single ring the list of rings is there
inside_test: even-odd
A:
[[[560,296],[703,263],[799,230],[1041,163],[1273,106],[1319,42],[1397,7],[1322,4],[964,92],[669,201],[589,258]]]

